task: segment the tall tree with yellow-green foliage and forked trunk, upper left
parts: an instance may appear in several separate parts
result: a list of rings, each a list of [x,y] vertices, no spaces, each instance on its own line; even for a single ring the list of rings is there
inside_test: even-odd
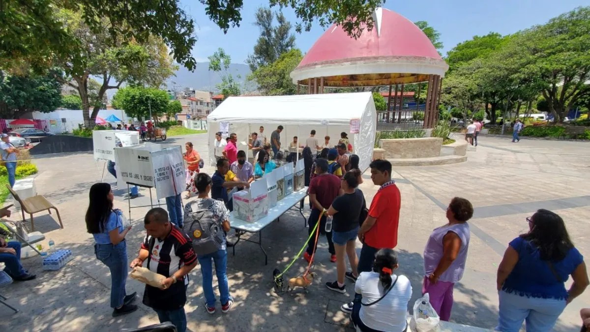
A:
[[[168,56],[168,49],[159,38],[148,38],[146,43],[124,43],[113,40],[109,34],[110,22],[101,20],[104,30],[93,32],[80,18],[83,13],[61,11],[71,38],[80,41],[66,57],[54,59],[54,64],[64,70],[55,75],[63,84],[76,89],[82,100],[82,113],[87,127],[94,126],[101,107],[101,100],[109,89],[127,84],[159,87],[172,76],[176,66]],[[96,99],[92,99],[91,76],[100,77]],[[92,108],[92,110],[90,110]]]

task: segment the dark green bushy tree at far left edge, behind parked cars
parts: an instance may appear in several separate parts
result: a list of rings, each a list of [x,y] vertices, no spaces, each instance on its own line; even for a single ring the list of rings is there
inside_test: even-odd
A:
[[[53,112],[61,104],[61,84],[52,74],[27,76],[0,71],[0,115],[19,118],[27,112]]]

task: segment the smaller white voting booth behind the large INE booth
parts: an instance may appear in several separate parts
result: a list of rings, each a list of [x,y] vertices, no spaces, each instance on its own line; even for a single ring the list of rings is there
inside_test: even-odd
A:
[[[93,131],[94,160],[114,161],[114,148],[132,147],[139,144],[136,131]]]

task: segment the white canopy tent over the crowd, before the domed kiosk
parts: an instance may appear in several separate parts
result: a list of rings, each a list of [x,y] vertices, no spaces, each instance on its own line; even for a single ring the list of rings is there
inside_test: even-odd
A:
[[[238,135],[238,150],[246,150],[241,142],[248,142],[252,132],[264,126],[264,134],[270,140],[277,126],[283,126],[281,148],[289,147],[293,136],[304,145],[310,131],[316,131],[320,144],[324,136],[330,136],[330,144],[336,145],[340,133],[346,132],[359,156],[361,170],[369,167],[375,144],[376,111],[370,92],[326,93],[295,96],[228,97],[207,116],[209,132],[209,160],[215,162],[214,139],[220,123],[229,123],[229,132]],[[358,134],[351,134],[351,127],[358,126]],[[250,155],[250,154],[248,154]]]

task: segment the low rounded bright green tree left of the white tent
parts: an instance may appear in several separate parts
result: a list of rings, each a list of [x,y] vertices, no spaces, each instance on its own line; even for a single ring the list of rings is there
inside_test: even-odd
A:
[[[133,118],[159,118],[169,111],[168,92],[153,87],[123,87],[113,96],[113,106]],[[182,109],[182,106],[181,106]],[[151,112],[150,112],[151,111]]]

